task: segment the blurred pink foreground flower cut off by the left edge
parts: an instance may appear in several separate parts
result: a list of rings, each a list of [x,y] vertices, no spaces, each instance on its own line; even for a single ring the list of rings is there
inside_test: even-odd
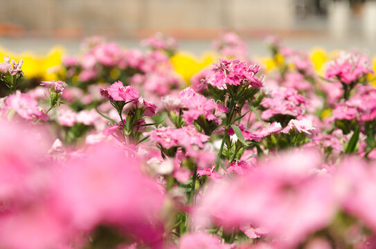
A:
[[[48,184],[46,160],[42,160],[52,143],[44,136],[47,133],[24,122],[0,120],[1,205],[21,201],[24,196],[35,199],[38,190]]]

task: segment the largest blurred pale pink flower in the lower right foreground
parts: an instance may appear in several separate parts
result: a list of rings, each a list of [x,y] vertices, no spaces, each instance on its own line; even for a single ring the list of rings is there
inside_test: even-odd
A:
[[[336,208],[332,178],[316,174],[314,151],[289,152],[231,180],[212,183],[193,212],[196,225],[224,229],[252,224],[269,230],[280,248],[294,248],[330,223]],[[283,246],[282,246],[283,245]]]

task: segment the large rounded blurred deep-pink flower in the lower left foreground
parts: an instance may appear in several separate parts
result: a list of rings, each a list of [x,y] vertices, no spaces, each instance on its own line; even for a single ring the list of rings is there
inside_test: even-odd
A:
[[[138,226],[150,232],[150,222],[157,221],[164,197],[156,181],[141,173],[138,162],[105,144],[94,145],[84,155],[72,158],[54,178],[56,211],[68,215],[81,229],[112,223],[129,232],[132,225],[133,232]]]

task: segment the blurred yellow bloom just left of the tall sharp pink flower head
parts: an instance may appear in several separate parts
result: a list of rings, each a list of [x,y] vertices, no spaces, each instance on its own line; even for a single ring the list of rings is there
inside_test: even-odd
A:
[[[201,58],[187,52],[179,52],[171,57],[171,64],[174,66],[174,71],[181,75],[186,83],[190,83],[190,77],[198,73],[205,66],[212,64],[215,60],[215,55],[206,53]]]

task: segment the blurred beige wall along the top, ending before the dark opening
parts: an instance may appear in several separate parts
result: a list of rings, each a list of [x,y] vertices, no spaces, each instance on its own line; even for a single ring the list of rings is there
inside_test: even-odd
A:
[[[292,0],[11,0],[0,23],[26,29],[169,30],[294,25]]]

